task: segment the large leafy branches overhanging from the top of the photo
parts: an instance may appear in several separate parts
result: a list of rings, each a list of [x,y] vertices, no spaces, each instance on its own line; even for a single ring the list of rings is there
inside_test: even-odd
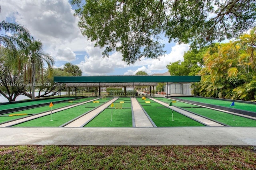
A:
[[[72,0],[82,35],[104,48],[103,57],[122,53],[132,64],[156,59],[162,39],[201,47],[236,37],[255,26],[256,0]]]

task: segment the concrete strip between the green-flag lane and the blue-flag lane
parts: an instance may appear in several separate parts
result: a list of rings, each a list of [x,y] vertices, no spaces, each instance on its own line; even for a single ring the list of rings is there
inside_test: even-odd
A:
[[[162,104],[163,106],[166,106],[166,107],[172,107],[172,109],[174,111],[177,111],[178,113],[181,113],[187,117],[190,117],[196,121],[199,121],[201,123],[203,123],[204,125],[207,125],[207,126],[215,126],[215,127],[224,127],[224,125],[220,124],[220,123],[216,123],[215,121],[211,121],[209,119],[206,119],[204,117],[201,117],[201,116],[198,116],[198,115],[195,115],[193,113],[190,113],[189,111],[185,111],[183,109],[180,109],[178,107],[175,107],[175,106],[169,106],[169,104],[166,104],[165,102],[162,102],[162,101],[159,101],[159,100],[156,100],[154,98],[149,98],[150,100],[153,100],[155,102],[158,102],[159,104]]]

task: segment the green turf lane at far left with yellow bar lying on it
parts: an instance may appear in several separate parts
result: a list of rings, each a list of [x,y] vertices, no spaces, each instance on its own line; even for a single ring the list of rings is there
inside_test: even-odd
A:
[[[91,100],[90,98],[83,98],[83,99],[79,99],[79,100],[73,100],[73,101],[77,101],[77,102],[85,102]],[[68,103],[68,102],[62,102],[62,103],[58,103],[58,104],[54,104],[52,106],[52,109],[58,109],[60,107],[65,107],[65,106],[70,106],[73,103]],[[3,116],[0,116],[0,123],[6,122],[6,121],[11,121],[14,119],[20,119],[22,117],[27,117],[29,115],[20,115],[20,116],[8,116],[11,114],[20,114],[20,113],[27,113],[27,114],[38,114],[38,113],[42,113],[45,111],[50,111],[51,107],[49,106],[42,106],[42,107],[36,107],[33,109],[27,109],[27,110],[23,110],[23,111],[16,111],[16,112],[12,112],[12,113],[7,113],[7,114],[3,114]]]

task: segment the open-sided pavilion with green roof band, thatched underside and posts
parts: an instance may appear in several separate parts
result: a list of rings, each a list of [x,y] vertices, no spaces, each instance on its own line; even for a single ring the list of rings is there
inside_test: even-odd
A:
[[[138,75],[138,76],[55,76],[54,82],[65,83],[66,87],[126,87],[132,86],[132,97],[134,97],[134,86],[156,86],[157,83],[191,83],[200,82],[200,76],[153,76],[153,75]],[[154,89],[153,89],[154,90]],[[150,92],[151,93],[151,92]],[[167,93],[168,94],[168,93]]]

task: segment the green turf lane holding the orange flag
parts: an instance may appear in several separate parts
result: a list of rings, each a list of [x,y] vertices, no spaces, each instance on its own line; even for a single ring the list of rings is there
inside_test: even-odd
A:
[[[88,102],[87,105],[79,105],[76,107],[72,107],[70,109],[65,109],[62,111],[58,111],[56,113],[52,113],[50,115],[46,115],[43,117],[38,117],[36,119],[26,121],[24,123],[20,123],[14,125],[13,127],[58,127],[63,125],[64,123],[98,107],[105,102],[108,102],[110,99],[104,100],[99,103]],[[103,103],[102,103],[103,102]],[[88,107],[89,106],[89,107]]]

